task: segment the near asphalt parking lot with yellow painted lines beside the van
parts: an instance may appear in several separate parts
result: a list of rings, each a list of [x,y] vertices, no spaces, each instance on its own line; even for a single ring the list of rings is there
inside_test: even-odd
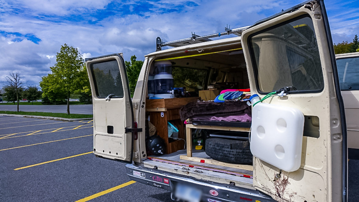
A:
[[[0,116],[0,201],[172,201],[130,181],[123,163],[96,158],[92,126]]]

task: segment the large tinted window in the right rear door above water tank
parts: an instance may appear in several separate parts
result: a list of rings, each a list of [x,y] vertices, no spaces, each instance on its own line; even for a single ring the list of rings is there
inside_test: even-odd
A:
[[[248,38],[258,91],[293,86],[299,93],[324,88],[317,39],[309,16],[267,28]]]

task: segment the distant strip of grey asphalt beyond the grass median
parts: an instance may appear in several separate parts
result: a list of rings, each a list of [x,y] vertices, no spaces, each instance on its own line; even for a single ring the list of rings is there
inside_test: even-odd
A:
[[[16,111],[17,105],[0,105],[1,111]],[[20,105],[20,111],[66,113],[67,105]],[[71,114],[92,114],[92,105],[70,105]]]

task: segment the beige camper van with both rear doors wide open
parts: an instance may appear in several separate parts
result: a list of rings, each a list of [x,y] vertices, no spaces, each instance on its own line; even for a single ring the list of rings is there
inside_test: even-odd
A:
[[[240,36],[209,39],[230,33]],[[126,162],[130,179],[169,190],[174,200],[346,202],[347,130],[332,44],[319,0],[225,33],[158,38],[132,99],[122,54],[89,58],[94,154]],[[174,48],[160,50],[165,45]],[[153,76],[159,61],[172,64],[172,76]],[[156,79],[165,83],[157,90],[190,92],[153,99],[149,83]],[[240,99],[196,102],[196,93],[213,100],[223,87],[242,89],[234,91]],[[248,106],[248,94],[262,102]],[[225,111],[251,119],[198,119]],[[178,132],[169,134],[170,124]],[[205,143],[197,139],[202,133]]]

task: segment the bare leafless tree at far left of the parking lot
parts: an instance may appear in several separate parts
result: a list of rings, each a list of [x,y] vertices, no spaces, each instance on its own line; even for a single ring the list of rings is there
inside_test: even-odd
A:
[[[6,82],[8,83],[8,85],[4,86],[4,90],[5,88],[7,88],[9,90],[9,93],[13,93],[12,96],[16,96],[16,101],[17,101],[17,111],[19,111],[19,100],[21,98],[22,92],[24,90],[24,82],[22,81],[22,78],[20,76],[19,72],[11,72],[9,73],[9,76],[6,76]],[[8,96],[9,94],[7,94],[6,96]],[[10,97],[12,97],[10,95]]]

